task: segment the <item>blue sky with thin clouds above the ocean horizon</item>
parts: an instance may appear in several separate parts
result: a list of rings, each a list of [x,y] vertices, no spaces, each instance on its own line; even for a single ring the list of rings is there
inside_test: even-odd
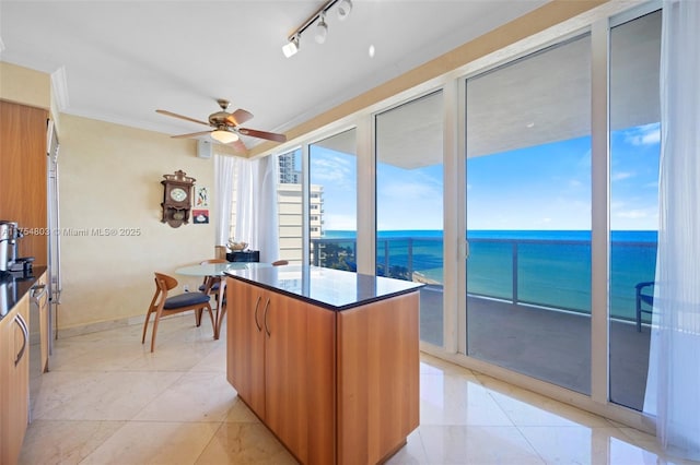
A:
[[[660,126],[614,132],[610,227],[656,230]],[[312,147],[311,181],[324,187],[324,229],[354,230],[355,157]],[[467,162],[467,229],[591,229],[588,136]],[[435,165],[377,165],[380,230],[442,229],[443,172]]]

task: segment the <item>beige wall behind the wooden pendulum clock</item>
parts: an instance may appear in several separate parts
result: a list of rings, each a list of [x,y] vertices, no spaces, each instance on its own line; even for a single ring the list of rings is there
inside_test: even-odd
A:
[[[214,257],[213,215],[208,225],[172,228],[160,222],[163,175],[183,169],[196,184],[207,186],[214,201],[213,159],[197,158],[192,140],[70,115],[61,115],[59,136],[63,293],[58,329],[143,317],[154,271],[174,274],[178,266]],[[93,228],[138,235],[100,236]],[[174,276],[180,289],[200,284]]]

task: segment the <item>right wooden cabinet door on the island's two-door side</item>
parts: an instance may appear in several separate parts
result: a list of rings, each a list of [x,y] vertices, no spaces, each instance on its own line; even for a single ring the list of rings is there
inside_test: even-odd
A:
[[[268,296],[265,422],[302,463],[332,463],[335,312]]]

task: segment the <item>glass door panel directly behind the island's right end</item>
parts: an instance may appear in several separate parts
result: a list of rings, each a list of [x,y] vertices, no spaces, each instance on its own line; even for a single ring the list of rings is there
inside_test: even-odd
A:
[[[421,341],[443,344],[443,95],[382,112],[376,128],[376,274],[425,283]]]

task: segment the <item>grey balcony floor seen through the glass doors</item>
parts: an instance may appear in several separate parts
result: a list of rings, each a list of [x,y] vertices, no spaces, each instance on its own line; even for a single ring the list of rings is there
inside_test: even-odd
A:
[[[469,296],[469,356],[576,392],[591,392],[591,318]],[[421,290],[421,339],[442,345],[442,291]],[[641,410],[649,327],[610,323],[610,398]]]

